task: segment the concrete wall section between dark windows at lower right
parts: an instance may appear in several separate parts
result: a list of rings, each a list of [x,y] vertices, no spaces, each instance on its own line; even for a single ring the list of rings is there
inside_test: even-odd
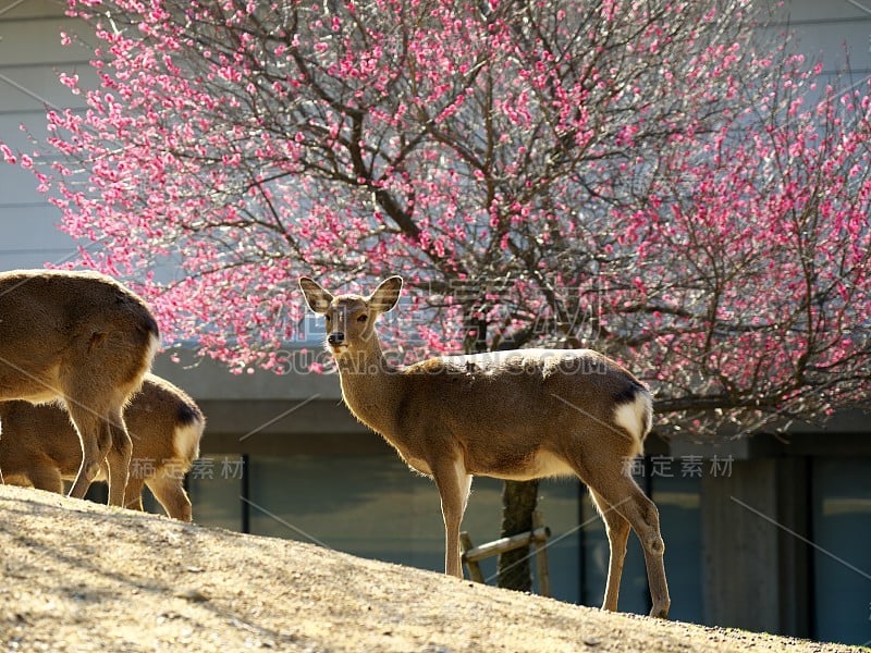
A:
[[[735,460],[701,501],[704,623],[808,637],[806,459]]]

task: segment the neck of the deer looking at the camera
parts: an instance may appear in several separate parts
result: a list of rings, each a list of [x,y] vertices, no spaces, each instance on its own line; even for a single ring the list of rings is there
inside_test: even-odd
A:
[[[387,435],[393,427],[401,374],[381,350],[377,337],[366,347],[336,356],[342,397],[351,411],[370,429]]]

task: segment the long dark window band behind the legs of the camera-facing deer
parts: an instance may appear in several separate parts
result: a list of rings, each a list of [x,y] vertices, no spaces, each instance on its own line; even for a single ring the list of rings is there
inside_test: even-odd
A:
[[[408,471],[392,454],[210,456],[189,476],[198,523],[255,534],[312,542],[361,557],[441,571],[444,527],[434,483]],[[650,466],[646,468],[650,476]],[[648,481],[660,509],[665,567],[675,596],[672,617],[701,621],[700,479],[674,473]],[[551,529],[548,565],[551,592],[569,603],[598,606],[608,578],[604,526],[586,488],[575,479],[544,480],[538,508]],[[500,533],[502,481],[479,477],[463,530],[474,544]],[[578,518],[580,516],[580,519]],[[532,565],[535,569],[535,565]],[[482,562],[495,584],[495,558]],[[538,581],[535,580],[536,588]],[[621,583],[621,611],[647,614],[650,596],[638,539],[629,551]]]

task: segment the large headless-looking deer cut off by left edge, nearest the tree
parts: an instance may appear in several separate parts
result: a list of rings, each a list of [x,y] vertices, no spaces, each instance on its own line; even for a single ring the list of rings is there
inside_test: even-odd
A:
[[[82,448],[71,496],[85,495],[106,460],[109,503],[123,504],[132,445],[122,410],[158,343],[151,311],[109,276],[0,273],[0,401],[66,408]]]

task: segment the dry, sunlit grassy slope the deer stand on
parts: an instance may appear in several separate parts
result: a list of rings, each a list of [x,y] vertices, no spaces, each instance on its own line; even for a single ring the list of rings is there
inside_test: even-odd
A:
[[[0,486],[0,650],[847,651]]]

